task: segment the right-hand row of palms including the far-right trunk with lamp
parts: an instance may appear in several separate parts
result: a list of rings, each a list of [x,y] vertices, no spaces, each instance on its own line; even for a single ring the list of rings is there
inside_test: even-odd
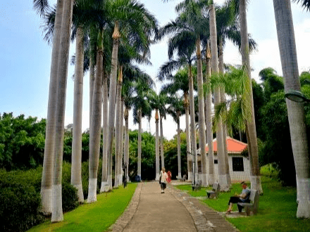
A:
[[[299,0],[297,0],[299,2]],[[277,25],[278,32],[278,41],[281,62],[283,65],[283,75],[285,77],[285,91],[294,89],[300,91],[300,82],[299,82],[299,72],[297,65],[297,55],[296,55],[296,46],[294,42],[294,27],[292,24],[292,12],[290,6],[290,0],[278,1],[274,0],[274,9],[275,9],[275,21]],[[302,1],[304,8],[309,10],[310,3],[307,0]],[[204,115],[204,110],[202,109],[204,104],[204,96],[202,94],[202,70],[201,70],[201,51],[200,44],[201,41],[206,45],[211,44],[211,54],[208,49],[206,51],[206,88],[207,94],[211,93],[211,88],[213,89],[214,102],[218,112],[221,112],[220,108],[225,108],[220,105],[221,102],[225,102],[225,94],[227,91],[223,88],[223,85],[219,84],[221,82],[215,83],[213,86],[209,84],[210,73],[215,75],[223,75],[223,41],[225,38],[232,39],[235,44],[240,45],[240,52],[242,54],[242,72],[240,76],[245,76],[247,79],[241,78],[241,85],[243,89],[235,88],[233,92],[234,96],[237,99],[235,106],[239,103],[241,106],[241,113],[243,115],[241,119],[240,128],[244,127],[244,130],[247,134],[249,157],[251,163],[251,187],[258,190],[262,193],[261,180],[259,173],[259,162],[258,162],[258,146],[256,139],[256,125],[254,119],[254,103],[253,103],[253,94],[252,94],[252,82],[251,82],[251,65],[249,60],[249,52],[251,46],[254,44],[249,40],[247,33],[247,1],[246,0],[232,0],[226,1],[226,6],[221,9],[215,10],[213,6],[213,1],[190,1],[185,0],[177,6],[177,11],[180,12],[178,18],[166,25],[163,28],[163,34],[173,33],[169,41],[169,56],[173,56],[173,52],[176,51],[178,59],[170,60],[169,63],[166,63],[161,67],[161,74],[159,79],[164,79],[165,77],[171,77],[171,70],[180,67],[180,65],[185,65],[187,62],[188,65],[188,80],[189,80],[189,93],[190,93],[190,112],[191,112],[191,153],[196,157],[197,151],[195,146],[195,136],[194,133],[194,108],[193,108],[193,90],[192,90],[192,56],[194,53],[194,44],[196,44],[196,57],[197,60],[197,84],[198,84],[198,101],[199,101],[199,146],[202,150],[202,183],[206,184],[206,179],[209,180],[209,183],[212,183],[213,178],[213,168],[212,166],[212,149],[209,150],[209,178],[206,178],[206,157],[204,153],[204,134],[201,131],[204,131],[204,117],[210,119],[211,113],[208,112]],[[233,8],[230,8],[233,6]],[[235,11],[233,17],[230,19],[230,9]],[[206,17],[204,17],[204,12],[208,12]],[[224,18],[221,18],[221,14],[225,15]],[[209,16],[209,17],[208,17]],[[237,17],[236,17],[237,16]],[[207,21],[209,20],[209,22]],[[239,21],[240,31],[233,30],[233,34],[239,35],[240,39],[233,39],[231,37],[229,30],[230,28],[237,29],[236,20]],[[220,23],[218,23],[220,21]],[[209,24],[209,27],[206,25]],[[209,29],[209,31],[207,30]],[[204,42],[204,36],[206,36],[206,41]],[[236,38],[236,37],[235,37]],[[209,40],[209,41],[208,41]],[[177,42],[176,42],[177,41]],[[219,52],[218,52],[219,51]],[[210,58],[211,55],[211,58]],[[209,60],[211,60],[211,69],[209,66]],[[247,91],[249,89],[249,91]],[[241,91],[241,93],[240,93]],[[184,91],[184,94],[186,90]],[[210,101],[210,96],[206,97],[207,101]],[[207,105],[207,104],[206,104]],[[211,104],[209,103],[206,107],[210,109]],[[218,110],[220,109],[220,110]],[[309,148],[307,146],[307,137],[306,137],[306,127],[304,124],[304,108],[301,103],[294,103],[287,99],[287,111],[289,115],[290,122],[290,131],[292,138],[292,150],[294,154],[294,162],[297,172],[297,201],[299,202],[297,208],[297,217],[310,217],[310,161],[309,161]],[[222,117],[221,117],[222,116]],[[218,143],[218,160],[219,160],[219,182],[221,186],[228,187],[230,184],[230,177],[228,172],[228,163],[227,163],[227,150],[225,148],[225,119],[223,115],[216,117],[216,138]],[[227,120],[227,118],[226,118]],[[210,121],[209,121],[210,122]],[[240,121],[238,121],[240,122]],[[188,121],[187,121],[188,123]],[[244,124],[244,126],[242,125]],[[209,123],[206,120],[206,133],[211,137],[209,133]],[[188,127],[187,127],[188,128]],[[208,136],[207,136],[208,137]],[[189,139],[187,137],[187,139]],[[212,144],[211,139],[208,138],[209,145]],[[188,148],[188,146],[187,146]],[[196,163],[194,166],[197,167],[197,158],[194,159]]]

